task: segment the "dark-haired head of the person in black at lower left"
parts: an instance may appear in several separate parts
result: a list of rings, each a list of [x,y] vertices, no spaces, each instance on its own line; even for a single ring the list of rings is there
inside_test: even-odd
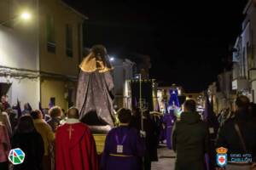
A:
[[[29,133],[35,130],[32,116],[21,116],[17,126],[17,132]]]

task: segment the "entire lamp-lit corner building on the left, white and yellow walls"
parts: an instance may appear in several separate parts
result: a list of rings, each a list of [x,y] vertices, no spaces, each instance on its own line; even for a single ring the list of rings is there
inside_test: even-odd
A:
[[[32,19],[9,20],[22,10]],[[0,21],[6,20],[0,26],[1,94],[11,105],[17,99],[32,108],[39,101],[44,108],[73,105],[86,17],[61,0],[3,0]]]

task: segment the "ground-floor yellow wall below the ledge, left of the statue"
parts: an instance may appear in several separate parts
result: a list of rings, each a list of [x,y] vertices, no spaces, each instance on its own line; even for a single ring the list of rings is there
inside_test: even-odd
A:
[[[44,80],[41,82],[41,102],[43,108],[49,107],[49,99],[55,98],[55,105],[61,106],[62,109],[67,110],[67,99],[65,99],[66,82],[58,80]]]

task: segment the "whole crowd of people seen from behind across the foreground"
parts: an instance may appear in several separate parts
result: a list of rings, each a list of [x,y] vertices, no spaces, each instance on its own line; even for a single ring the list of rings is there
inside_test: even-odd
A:
[[[213,138],[211,123],[196,112],[193,99],[184,102],[184,111],[178,120],[156,120],[149,111],[141,114],[139,109],[122,108],[117,111],[119,126],[109,131],[99,156],[90,128],[79,121],[79,111],[75,107],[66,113],[59,106],[42,111],[32,110],[26,104],[24,111],[15,113],[19,107],[11,108],[3,96],[0,102],[0,169],[150,170],[151,162],[158,161],[157,146],[162,140],[164,122],[170,122],[166,129],[172,137],[166,135],[166,139],[171,145],[168,148],[177,153],[176,170],[224,169],[216,164],[215,150],[219,147],[228,149],[229,163],[225,169],[253,169],[256,161],[255,108],[246,96],[239,96],[234,112],[225,110],[215,117],[218,129]],[[9,163],[9,150],[14,148],[26,153],[22,164]],[[248,154],[252,161],[231,162],[230,154]]]

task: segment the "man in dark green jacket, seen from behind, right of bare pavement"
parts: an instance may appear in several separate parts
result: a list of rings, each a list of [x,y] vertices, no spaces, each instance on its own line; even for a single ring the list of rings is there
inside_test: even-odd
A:
[[[177,153],[175,170],[203,170],[208,146],[207,125],[201,121],[192,99],[184,103],[184,112],[172,131],[172,148]]]

